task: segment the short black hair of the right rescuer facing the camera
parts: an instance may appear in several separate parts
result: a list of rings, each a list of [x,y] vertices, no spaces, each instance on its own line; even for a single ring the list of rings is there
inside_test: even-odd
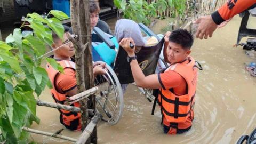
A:
[[[172,31],[169,41],[180,44],[183,49],[190,49],[193,45],[194,38],[186,29],[177,29]]]

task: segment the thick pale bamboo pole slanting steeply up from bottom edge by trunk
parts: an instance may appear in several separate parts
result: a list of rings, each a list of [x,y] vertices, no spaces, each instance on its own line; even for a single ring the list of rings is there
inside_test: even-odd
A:
[[[90,135],[92,134],[94,128],[97,126],[98,122],[102,118],[102,115],[96,112],[93,116],[91,122],[86,126],[83,133],[80,135],[79,139],[76,141],[76,144],[84,144]]]

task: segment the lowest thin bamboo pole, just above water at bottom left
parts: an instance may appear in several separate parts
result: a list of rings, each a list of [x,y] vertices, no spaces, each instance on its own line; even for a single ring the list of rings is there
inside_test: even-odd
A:
[[[22,127],[22,130],[27,131],[27,132],[31,132],[31,133],[36,133],[36,134],[41,134],[41,135],[46,135],[49,137],[54,137],[54,138],[59,138],[59,139],[63,139],[63,140],[68,140],[68,141],[72,141],[72,142],[76,142],[77,139],[73,139],[64,135],[60,135],[60,134],[56,134],[56,133],[50,133],[50,132],[44,132],[44,131],[39,131],[39,130],[35,130],[35,129],[30,129],[28,127]]]

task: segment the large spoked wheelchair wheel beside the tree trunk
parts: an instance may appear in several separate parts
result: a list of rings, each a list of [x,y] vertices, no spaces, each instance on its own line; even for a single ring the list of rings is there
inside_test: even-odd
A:
[[[100,65],[102,61],[93,63],[93,67]],[[123,91],[113,69],[106,64],[106,74],[98,75],[94,85],[99,88],[96,95],[97,109],[102,114],[102,121],[110,125],[118,123],[123,114]]]

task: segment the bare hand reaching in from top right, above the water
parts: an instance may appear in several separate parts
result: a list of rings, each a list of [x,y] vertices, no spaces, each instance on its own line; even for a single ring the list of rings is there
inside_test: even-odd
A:
[[[211,15],[200,17],[193,23],[199,25],[196,31],[196,37],[200,39],[207,39],[208,36],[212,37],[213,31],[217,29],[217,25],[212,20]]]

